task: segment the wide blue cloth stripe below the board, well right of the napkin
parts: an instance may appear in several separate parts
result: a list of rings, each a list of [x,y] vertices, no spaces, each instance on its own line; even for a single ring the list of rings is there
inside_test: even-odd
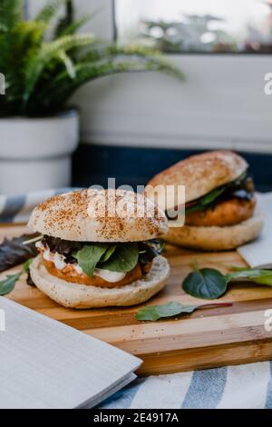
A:
[[[181,408],[216,408],[225,389],[227,371],[227,368],[219,368],[194,372]]]

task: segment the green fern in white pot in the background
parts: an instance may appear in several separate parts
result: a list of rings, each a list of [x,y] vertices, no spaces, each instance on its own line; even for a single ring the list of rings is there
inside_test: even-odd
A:
[[[65,4],[66,14],[55,21]],[[78,33],[71,1],[53,0],[24,19],[23,0],[0,0],[0,194],[70,184],[79,114],[68,101],[83,84],[109,74],[180,70],[155,52],[100,42]]]

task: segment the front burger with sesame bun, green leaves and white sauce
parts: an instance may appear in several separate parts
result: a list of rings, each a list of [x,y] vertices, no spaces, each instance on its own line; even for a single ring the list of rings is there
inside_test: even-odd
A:
[[[143,194],[90,189],[56,195],[34,209],[28,226],[41,233],[31,279],[65,307],[143,303],[169,277],[159,240],[167,218]]]

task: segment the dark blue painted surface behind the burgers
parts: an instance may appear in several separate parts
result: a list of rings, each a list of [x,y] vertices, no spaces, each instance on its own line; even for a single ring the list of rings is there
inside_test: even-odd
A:
[[[73,185],[107,186],[107,178],[116,184],[144,185],[154,174],[179,162],[196,150],[117,147],[82,144],[74,154]],[[272,190],[272,154],[242,154],[250,164],[257,190]]]

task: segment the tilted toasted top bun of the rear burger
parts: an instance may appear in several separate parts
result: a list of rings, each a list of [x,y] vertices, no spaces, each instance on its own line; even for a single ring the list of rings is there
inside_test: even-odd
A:
[[[149,185],[185,185],[185,202],[191,202],[238,178],[248,163],[230,151],[192,155],[157,174]],[[152,198],[148,189],[146,193]]]

